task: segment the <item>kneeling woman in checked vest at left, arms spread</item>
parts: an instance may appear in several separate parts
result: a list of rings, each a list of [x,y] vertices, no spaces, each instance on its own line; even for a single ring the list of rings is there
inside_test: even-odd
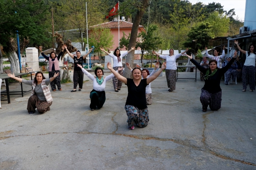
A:
[[[54,73],[54,76],[50,79],[45,79],[42,72],[37,72],[35,74],[34,80],[25,80],[18,77],[15,77],[14,73],[8,74],[9,77],[15,79],[24,84],[28,84],[33,87],[30,98],[28,99],[28,113],[35,113],[35,108],[39,113],[45,113],[50,110],[50,106],[52,105],[52,95],[50,92],[49,84],[52,82],[59,73]]]

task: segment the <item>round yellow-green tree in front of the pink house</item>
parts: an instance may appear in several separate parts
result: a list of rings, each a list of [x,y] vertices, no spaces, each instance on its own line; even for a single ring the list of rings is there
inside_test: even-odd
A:
[[[114,35],[111,33],[110,29],[102,28],[102,27],[95,27],[91,30],[89,36],[89,44],[90,46],[94,46],[94,53],[98,53],[99,60],[101,60],[102,51],[100,48],[112,48],[114,41]]]

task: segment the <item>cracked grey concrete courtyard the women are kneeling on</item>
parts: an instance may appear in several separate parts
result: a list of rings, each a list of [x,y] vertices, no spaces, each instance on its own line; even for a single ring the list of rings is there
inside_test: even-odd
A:
[[[134,130],[124,110],[127,87],[117,93],[111,81],[103,108],[95,111],[91,80],[73,93],[72,83],[62,84],[43,114],[28,114],[30,93],[1,101],[0,170],[256,170],[256,91],[221,81],[221,109],[202,112],[199,71],[197,82],[179,79],[173,92],[163,75],[151,83],[148,126]]]

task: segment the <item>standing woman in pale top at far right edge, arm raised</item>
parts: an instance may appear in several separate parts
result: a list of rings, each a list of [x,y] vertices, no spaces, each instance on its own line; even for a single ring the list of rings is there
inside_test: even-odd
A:
[[[256,48],[253,44],[250,44],[248,51],[244,51],[238,45],[238,41],[234,41],[237,48],[241,53],[246,55],[245,64],[243,65],[242,80],[243,80],[243,92],[246,91],[247,84],[250,86],[249,92],[255,90],[255,59]]]

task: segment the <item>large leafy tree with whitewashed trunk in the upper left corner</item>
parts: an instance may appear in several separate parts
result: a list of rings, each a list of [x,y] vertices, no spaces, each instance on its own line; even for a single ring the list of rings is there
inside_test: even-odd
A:
[[[0,1],[0,44],[8,55],[14,73],[20,72],[16,53],[17,31],[19,31],[21,51],[28,42],[40,44],[49,40],[44,34],[45,29],[42,22],[46,19],[46,10],[42,6],[44,6],[43,0]]]

